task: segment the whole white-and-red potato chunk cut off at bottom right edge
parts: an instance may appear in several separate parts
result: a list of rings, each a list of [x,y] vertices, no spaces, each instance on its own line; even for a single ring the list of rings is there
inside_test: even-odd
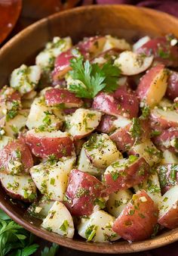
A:
[[[162,198],[158,223],[168,229],[178,226],[178,185],[169,189]]]

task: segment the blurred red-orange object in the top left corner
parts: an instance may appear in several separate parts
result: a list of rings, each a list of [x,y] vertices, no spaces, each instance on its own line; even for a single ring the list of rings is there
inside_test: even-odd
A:
[[[0,0],[0,43],[14,28],[21,8],[22,0]]]

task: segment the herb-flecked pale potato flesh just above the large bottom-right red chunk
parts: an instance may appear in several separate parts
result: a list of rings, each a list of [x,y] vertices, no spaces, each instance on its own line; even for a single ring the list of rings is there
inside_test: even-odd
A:
[[[140,183],[137,186],[134,186],[133,188],[135,192],[144,189],[150,196],[150,198],[152,198],[152,201],[154,201],[155,204],[157,204],[158,208],[160,208],[161,188],[158,179],[158,173],[152,173],[151,175],[149,175],[149,178],[146,181]]]

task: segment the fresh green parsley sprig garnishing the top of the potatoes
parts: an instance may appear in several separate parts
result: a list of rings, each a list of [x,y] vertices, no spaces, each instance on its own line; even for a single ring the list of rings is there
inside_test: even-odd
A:
[[[69,74],[72,79],[81,83],[69,85],[69,91],[79,98],[94,98],[103,89],[105,92],[113,92],[118,88],[121,70],[110,62],[99,67],[98,64],[91,64],[90,61],[79,57],[72,58],[70,66],[72,70]]]

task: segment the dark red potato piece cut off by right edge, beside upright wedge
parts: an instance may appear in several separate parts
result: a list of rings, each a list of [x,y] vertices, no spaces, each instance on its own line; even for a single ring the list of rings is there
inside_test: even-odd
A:
[[[170,98],[172,101],[174,98],[178,97],[178,72],[170,71],[170,76],[167,80],[167,98]]]

